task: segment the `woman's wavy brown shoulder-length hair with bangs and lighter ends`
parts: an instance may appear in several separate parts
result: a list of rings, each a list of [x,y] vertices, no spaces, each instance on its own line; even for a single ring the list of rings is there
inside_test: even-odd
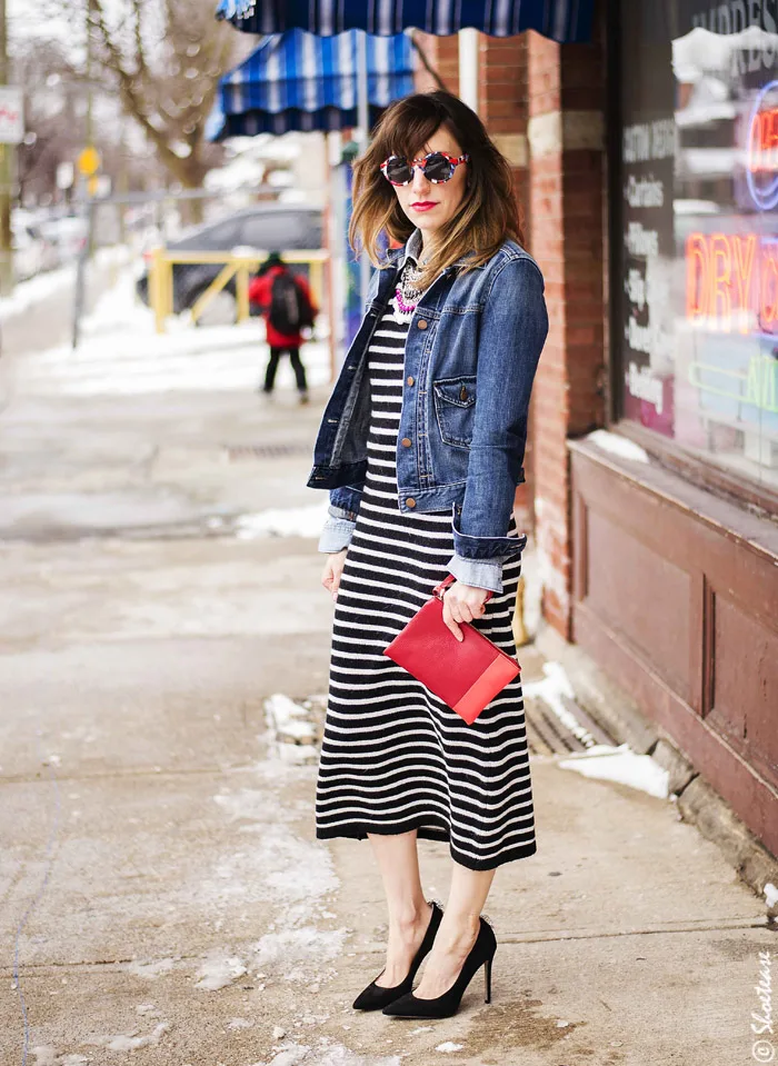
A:
[[[465,165],[467,191],[461,206],[438,235],[433,253],[421,269],[419,285],[425,288],[463,257],[467,262],[461,269],[466,271],[490,259],[506,238],[523,243],[510,163],[476,112],[452,93],[436,89],[415,92],[390,104],[373,131],[370,147],[355,163],[349,226],[353,250],[365,248],[371,262],[380,267],[381,231],[403,242],[413,232],[415,226],[380,165],[389,156],[416,158],[441,127],[450,131],[470,161]]]

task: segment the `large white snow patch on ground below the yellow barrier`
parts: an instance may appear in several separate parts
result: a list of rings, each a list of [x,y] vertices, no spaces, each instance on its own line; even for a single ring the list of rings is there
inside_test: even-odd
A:
[[[124,268],[81,326],[73,351],[59,345],[19,360],[17,388],[36,396],[122,396],[164,391],[246,391],[259,385],[267,363],[265,328],[259,319],[240,326],[196,327],[183,317],[154,331],[153,315],[141,303]],[[330,380],[329,346],[311,341],[302,349],[310,386]],[[276,383],[295,385],[288,359]]]

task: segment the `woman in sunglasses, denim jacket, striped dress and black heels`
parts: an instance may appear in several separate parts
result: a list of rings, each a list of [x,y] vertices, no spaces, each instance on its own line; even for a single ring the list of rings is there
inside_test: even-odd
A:
[[[382,230],[406,243],[380,263]],[[387,109],[356,166],[350,239],[381,269],[308,480],[330,491],[319,549],[336,600],[317,836],[369,838],[383,878],[386,967],[355,1007],[445,1017],[480,966],[489,1002],[481,908],[497,867],[537,849],[521,684],[468,726],[382,651],[451,574],[446,625],[516,655],[512,508],[548,317],[509,165],[448,92]],[[445,914],[425,899],[419,837],[449,843]]]

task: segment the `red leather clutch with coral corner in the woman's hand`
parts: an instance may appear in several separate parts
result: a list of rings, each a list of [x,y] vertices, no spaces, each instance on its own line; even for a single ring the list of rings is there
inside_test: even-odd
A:
[[[521,667],[470,622],[459,624],[463,639],[457,640],[443,621],[443,589],[453,580],[449,574],[435,587],[432,598],[383,649],[383,655],[422,681],[471,726]]]

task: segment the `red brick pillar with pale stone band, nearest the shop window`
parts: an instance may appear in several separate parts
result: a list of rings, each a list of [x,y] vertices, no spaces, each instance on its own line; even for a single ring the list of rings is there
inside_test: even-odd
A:
[[[604,56],[599,43],[559,46],[536,33],[527,37],[531,251],[546,278],[550,320],[530,427],[536,534],[543,615],[570,639],[572,529],[566,442],[605,425],[605,173],[604,151],[594,132],[604,106]],[[569,111],[584,113],[566,126]]]

